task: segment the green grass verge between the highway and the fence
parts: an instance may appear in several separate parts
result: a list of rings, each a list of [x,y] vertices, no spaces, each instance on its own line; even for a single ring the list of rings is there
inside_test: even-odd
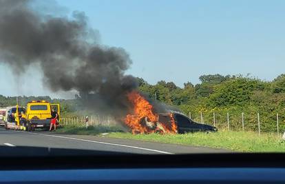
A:
[[[105,136],[136,139],[143,141],[156,141],[160,143],[177,143],[183,145],[199,145],[207,147],[224,148],[239,152],[285,152],[285,141],[282,141],[276,134],[261,134],[256,132],[227,132],[220,131],[211,134],[197,132],[193,134],[137,134],[133,135],[125,132],[118,132],[118,127],[96,126],[88,127],[63,127],[57,132],[67,134],[101,135],[109,132]]]

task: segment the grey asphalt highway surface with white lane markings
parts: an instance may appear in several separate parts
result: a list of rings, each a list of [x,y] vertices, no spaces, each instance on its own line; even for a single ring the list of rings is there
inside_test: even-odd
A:
[[[21,151],[17,150],[19,147],[21,147]],[[67,151],[63,152],[63,149]],[[43,131],[18,132],[0,129],[0,154],[12,153],[17,155],[19,152],[22,152],[21,154],[27,155],[45,155],[50,150],[57,150],[54,154],[70,153],[70,150],[77,150],[74,154],[191,154],[229,152],[229,150],[209,147],[114,139],[103,135],[83,136]]]

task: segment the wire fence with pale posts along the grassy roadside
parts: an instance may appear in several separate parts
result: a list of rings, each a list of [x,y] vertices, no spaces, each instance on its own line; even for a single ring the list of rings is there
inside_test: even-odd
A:
[[[277,114],[260,112],[189,112],[189,118],[198,123],[205,123],[217,127],[219,130],[243,132],[275,132],[278,136],[285,131],[285,117]],[[283,119],[283,121],[282,121]],[[86,126],[85,116],[63,117],[61,125]],[[89,116],[89,126],[116,126],[112,116]]]

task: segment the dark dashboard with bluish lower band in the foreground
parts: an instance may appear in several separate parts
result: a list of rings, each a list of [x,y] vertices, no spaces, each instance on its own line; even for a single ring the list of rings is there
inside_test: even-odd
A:
[[[284,183],[284,154],[3,157],[0,183]]]

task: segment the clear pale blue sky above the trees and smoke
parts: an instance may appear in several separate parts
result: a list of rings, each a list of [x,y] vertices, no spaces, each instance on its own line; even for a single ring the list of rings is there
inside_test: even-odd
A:
[[[149,83],[199,83],[202,74],[248,74],[272,80],[285,72],[285,1],[58,0],[85,12],[106,45],[134,61],[128,74]],[[3,70],[3,66],[0,66]],[[12,75],[1,72],[0,76]],[[49,94],[39,79],[25,95]],[[1,80],[3,82],[3,80]],[[14,94],[15,85],[0,94]],[[1,85],[0,88],[3,88]]]

